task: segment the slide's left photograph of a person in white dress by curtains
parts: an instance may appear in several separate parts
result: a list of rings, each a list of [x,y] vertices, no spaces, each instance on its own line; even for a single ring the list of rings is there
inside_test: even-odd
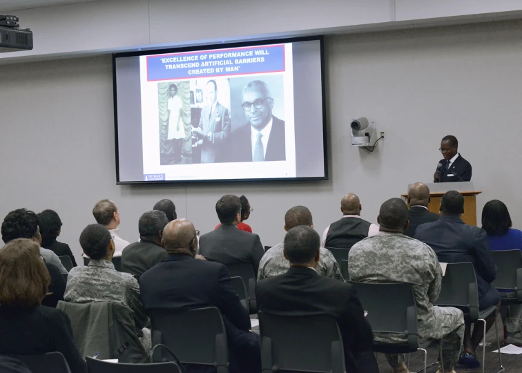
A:
[[[160,113],[160,164],[191,164],[190,82],[157,84]]]

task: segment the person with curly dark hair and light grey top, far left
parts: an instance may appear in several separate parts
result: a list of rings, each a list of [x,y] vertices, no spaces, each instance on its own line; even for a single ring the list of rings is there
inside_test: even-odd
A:
[[[40,228],[38,227],[38,216],[28,209],[18,209],[11,211],[3,219],[2,240],[8,243],[15,238],[30,238],[40,246],[40,255],[43,260],[50,265],[57,267],[62,274],[67,273],[67,269],[61,265],[60,258],[51,250],[41,247]]]

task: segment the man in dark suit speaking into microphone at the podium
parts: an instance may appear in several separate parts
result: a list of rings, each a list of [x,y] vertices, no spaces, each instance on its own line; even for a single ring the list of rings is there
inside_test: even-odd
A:
[[[434,182],[471,180],[471,164],[462,157],[461,153],[458,153],[458,140],[455,136],[445,136],[441,141],[441,149],[438,150],[443,153],[444,159],[439,161],[441,167],[437,167],[433,175]]]

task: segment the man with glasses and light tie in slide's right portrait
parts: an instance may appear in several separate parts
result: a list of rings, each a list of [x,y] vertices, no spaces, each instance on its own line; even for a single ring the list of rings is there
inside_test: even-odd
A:
[[[272,115],[273,98],[261,80],[249,82],[243,89],[241,104],[248,124],[232,133],[233,154],[230,162],[284,161],[284,121]]]

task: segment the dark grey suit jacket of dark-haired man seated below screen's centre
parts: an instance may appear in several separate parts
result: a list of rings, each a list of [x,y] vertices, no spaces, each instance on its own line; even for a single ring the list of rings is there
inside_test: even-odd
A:
[[[200,254],[224,265],[249,262],[256,275],[264,249],[257,234],[241,231],[235,225],[221,224],[215,231],[200,237]]]

